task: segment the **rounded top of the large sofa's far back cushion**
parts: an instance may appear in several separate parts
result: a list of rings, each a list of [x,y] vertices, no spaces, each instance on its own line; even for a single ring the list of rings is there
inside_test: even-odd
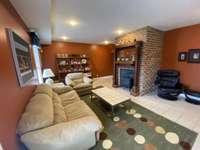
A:
[[[49,97],[52,98],[53,96],[53,93],[52,93],[52,88],[51,86],[47,85],[47,84],[40,84],[36,87],[33,95],[36,95],[36,94],[46,94],[48,95]]]

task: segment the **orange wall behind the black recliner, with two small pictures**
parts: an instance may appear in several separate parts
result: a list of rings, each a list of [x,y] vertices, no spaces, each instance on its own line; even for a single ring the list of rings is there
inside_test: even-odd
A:
[[[200,92],[200,64],[178,62],[179,52],[191,48],[200,48],[200,24],[167,31],[161,66],[180,71],[182,83]]]

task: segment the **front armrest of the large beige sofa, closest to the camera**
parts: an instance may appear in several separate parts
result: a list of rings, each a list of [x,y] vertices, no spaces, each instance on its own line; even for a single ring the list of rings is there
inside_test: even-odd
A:
[[[26,133],[21,141],[30,150],[74,149],[77,145],[87,145],[87,141],[95,144],[95,134],[102,128],[95,116],[87,116]]]

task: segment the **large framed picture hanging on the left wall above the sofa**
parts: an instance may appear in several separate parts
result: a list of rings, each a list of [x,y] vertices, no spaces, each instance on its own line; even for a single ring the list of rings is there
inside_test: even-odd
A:
[[[7,29],[12,49],[17,77],[21,87],[30,83],[34,77],[29,44],[11,29]]]

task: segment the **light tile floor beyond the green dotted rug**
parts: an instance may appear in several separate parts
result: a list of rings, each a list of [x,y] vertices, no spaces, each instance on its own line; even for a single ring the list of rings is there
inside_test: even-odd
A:
[[[112,88],[125,95],[130,95],[128,90],[112,87],[112,77],[103,77],[94,79],[94,87],[103,85]],[[182,126],[185,126],[198,134],[200,133],[200,106],[189,104],[180,96],[179,101],[167,101],[159,98],[155,93],[145,96],[134,97],[131,99],[149,110],[162,115]],[[198,135],[192,150],[200,150],[200,135]]]

